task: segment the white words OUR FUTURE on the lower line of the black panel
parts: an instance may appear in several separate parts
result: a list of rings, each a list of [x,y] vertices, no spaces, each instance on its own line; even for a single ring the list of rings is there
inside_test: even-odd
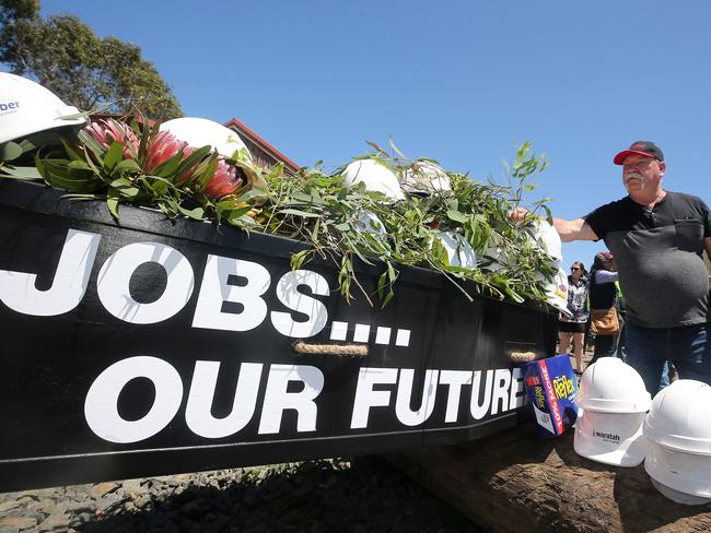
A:
[[[212,404],[220,366],[219,362],[196,360],[187,392],[186,425],[195,435],[209,439],[237,434],[253,421],[263,381],[263,364],[242,363],[232,411],[222,418],[215,418]],[[511,411],[523,404],[524,400],[517,396],[521,390],[518,384],[522,383],[520,369],[513,374],[505,368],[486,370],[483,400],[479,403],[482,374],[481,370],[426,370],[422,400],[419,408],[412,411],[413,369],[363,367],[359,370],[350,428],[366,428],[373,407],[392,408],[393,391],[375,390],[376,386],[397,384],[395,415],[409,427],[422,425],[430,418],[439,384],[448,389],[445,423],[457,422],[462,387],[465,384],[471,384],[470,412],[475,419]],[[153,383],[155,398],[145,415],[138,421],[127,421],[118,412],[118,400],[129,381],[137,378],[147,378]],[[296,431],[316,431],[316,399],[324,389],[324,380],[320,369],[313,366],[271,365],[258,434],[279,434],[284,411],[288,410],[296,412]],[[289,391],[294,382],[302,386],[301,390]],[[138,442],[156,435],[173,421],[180,407],[183,392],[180,376],[167,362],[149,356],[129,357],[113,364],[94,380],[84,402],[84,415],[89,427],[102,439],[117,443]]]

